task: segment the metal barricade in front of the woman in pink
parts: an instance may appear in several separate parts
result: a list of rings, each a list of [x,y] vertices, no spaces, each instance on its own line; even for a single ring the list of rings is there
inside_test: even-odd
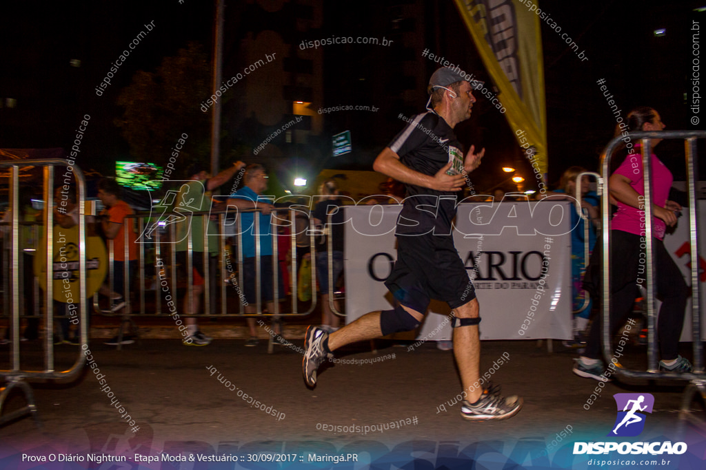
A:
[[[700,314],[700,293],[698,282],[698,245],[697,245],[697,199],[696,199],[696,178],[698,178],[696,160],[696,140],[706,138],[706,131],[661,131],[661,132],[630,132],[630,137],[637,142],[642,142],[642,171],[645,179],[645,245],[647,258],[650,260],[646,265],[647,280],[647,371],[630,371],[622,367],[616,368],[619,376],[624,378],[648,378],[667,379],[672,381],[690,381],[683,397],[681,412],[683,416],[688,416],[688,405],[695,392],[700,392],[706,398],[706,374],[704,373],[703,346],[701,342],[701,314]],[[693,373],[659,372],[657,364],[657,337],[655,335],[655,322],[657,316],[654,312],[655,280],[654,280],[654,259],[652,259],[652,167],[650,139],[683,139],[686,149],[686,180],[689,197],[689,228],[691,242],[691,292],[692,292],[692,328],[693,328]],[[616,137],[603,151],[602,173],[605,181],[609,178],[610,161],[614,151],[618,148],[621,137]],[[606,359],[612,360],[613,348],[611,347],[611,322],[610,322],[610,202],[607,188],[604,190],[602,199],[603,210],[603,347]],[[690,417],[688,419],[695,420]]]

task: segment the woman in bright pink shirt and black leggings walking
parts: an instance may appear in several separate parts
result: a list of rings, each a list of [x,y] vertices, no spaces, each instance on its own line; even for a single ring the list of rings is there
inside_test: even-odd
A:
[[[659,113],[642,106],[628,114],[628,132],[660,131],[664,124]],[[620,135],[618,133],[618,135]],[[662,139],[650,140],[654,148]],[[609,190],[611,202],[618,211],[611,221],[611,331],[615,334],[630,316],[638,285],[645,285],[645,263],[649,260],[642,254],[645,243],[645,188],[642,173],[642,153],[640,144],[633,145],[628,140],[628,156],[611,175]],[[691,363],[678,354],[679,337],[684,323],[686,298],[689,289],[664,248],[662,239],[666,227],[676,224],[676,212],[681,206],[669,201],[672,176],[662,161],[652,154],[652,256],[656,264],[657,296],[662,300],[657,321],[659,339],[659,361],[661,371],[690,372]],[[574,373],[582,377],[602,380],[604,365],[601,358],[601,326],[594,321],[591,327],[586,350],[576,359]],[[620,350],[623,349],[619,346]],[[616,350],[618,347],[616,347]]]

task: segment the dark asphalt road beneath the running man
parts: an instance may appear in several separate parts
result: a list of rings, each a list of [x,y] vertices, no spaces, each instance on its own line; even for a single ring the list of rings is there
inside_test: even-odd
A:
[[[309,390],[301,377],[297,351],[302,340],[294,340],[292,347],[277,347],[274,354],[267,354],[262,341],[258,347],[244,347],[242,340],[185,347],[178,340],[140,340],[121,351],[93,342],[90,352],[113,399],[101,390],[88,367],[71,383],[33,383],[44,432],[29,418],[0,427],[0,469],[55,468],[27,462],[30,457],[26,456],[22,462],[22,454],[85,456],[95,452],[130,457],[121,464],[92,464],[92,468],[105,469],[392,469],[397,468],[395,462],[402,466],[412,461],[417,462],[415,466],[405,468],[470,468],[472,459],[475,468],[549,468],[550,464],[553,468],[590,468],[587,460],[597,456],[573,456],[573,443],[610,440],[606,434],[616,420],[612,395],[621,392],[654,395],[654,410],[647,416],[645,431],[640,438],[626,440],[688,443],[687,454],[669,456],[681,457],[678,466],[673,466],[677,462],[671,458],[671,464],[659,468],[690,468],[683,466],[687,457],[703,464],[706,433],[693,426],[678,428],[686,383],[607,383],[599,388],[602,392],[594,404],[585,409],[598,382],[571,373],[570,352],[549,354],[533,341],[484,342],[481,369],[492,369],[493,361],[503,354],[509,357],[494,368],[493,383],[500,384],[505,395],[521,395],[525,404],[507,421],[472,423],[461,419],[460,404],[455,403],[461,386],[453,352],[437,350],[433,342],[417,350],[409,350],[409,344],[377,342],[376,352],[371,352],[369,343],[349,347],[337,356],[339,362],[320,369],[316,388]],[[42,357],[38,342],[25,342],[22,347],[23,366],[38,366]],[[1,361],[6,361],[6,350],[7,345],[0,346]],[[70,366],[79,351],[78,346],[56,347],[57,369]],[[626,366],[639,366],[644,351],[633,347],[630,354]],[[7,366],[0,362],[0,369]],[[116,401],[124,412],[116,409]],[[256,407],[258,402],[264,404],[264,411]],[[23,404],[23,397],[14,392],[6,410]],[[124,414],[135,422],[136,432]],[[329,426],[334,431],[328,431]],[[225,452],[240,460],[135,461],[135,454],[155,456],[162,451]],[[304,460],[244,462],[261,452],[284,452],[287,458],[297,454],[297,459]],[[311,452],[357,454],[363,463],[307,462]],[[83,469],[91,464],[66,465],[56,468]]]

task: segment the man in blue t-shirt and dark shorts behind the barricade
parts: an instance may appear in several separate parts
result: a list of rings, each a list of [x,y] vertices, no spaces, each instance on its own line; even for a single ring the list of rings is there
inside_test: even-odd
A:
[[[275,302],[279,302],[279,299],[275,299],[273,292],[273,268],[272,268],[272,233],[275,232],[275,228],[270,226],[277,221],[277,218],[272,217],[272,210],[274,206],[270,204],[270,199],[263,197],[262,194],[267,190],[268,175],[265,171],[265,167],[258,165],[257,163],[251,163],[246,166],[246,171],[244,175],[245,186],[240,190],[231,195],[227,200],[229,206],[235,206],[239,211],[247,211],[249,209],[260,209],[259,221],[260,221],[260,233],[256,235],[255,233],[255,216],[253,212],[243,212],[239,214],[241,218],[241,227],[243,233],[240,235],[239,240],[242,245],[243,250],[243,276],[244,283],[243,291],[245,295],[247,305],[245,305],[246,314],[259,314],[261,312],[257,311],[257,297],[256,297],[256,284],[258,282],[256,278],[256,253],[255,253],[255,239],[256,236],[260,241],[260,285],[262,299],[266,302],[267,308],[270,312],[275,310]],[[282,284],[282,276],[277,276],[278,279],[278,292],[284,295],[285,289]],[[248,327],[250,330],[250,339],[246,341],[246,346],[256,346],[258,344],[258,334],[255,328],[255,319],[249,317],[247,319]],[[273,318],[273,330],[277,334],[273,337],[275,344],[285,344],[282,340],[282,328],[281,322],[278,316]]]

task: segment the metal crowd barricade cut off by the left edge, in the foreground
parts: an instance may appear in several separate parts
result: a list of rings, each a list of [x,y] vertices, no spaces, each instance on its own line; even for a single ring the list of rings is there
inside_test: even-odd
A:
[[[19,164],[21,163],[21,165]],[[20,282],[22,277],[20,273],[20,206],[19,206],[19,171],[20,166],[40,166],[44,168],[44,228],[47,233],[47,253],[46,263],[47,272],[46,283],[47,287],[44,290],[44,364],[42,370],[25,370],[20,366]],[[10,169],[10,210],[12,211],[12,220],[8,225],[9,240],[10,240],[10,263],[9,271],[6,273],[10,276],[9,299],[11,304],[10,315],[10,330],[11,330],[11,349],[10,349],[10,369],[0,370],[0,378],[7,382],[4,388],[0,389],[0,425],[8,423],[15,419],[31,414],[35,419],[38,427],[41,427],[41,421],[38,416],[37,406],[34,400],[32,388],[27,383],[27,379],[67,379],[73,378],[83,369],[85,356],[83,350],[78,351],[76,361],[70,369],[66,371],[56,371],[54,364],[54,338],[52,332],[54,330],[54,167],[67,167],[67,162],[61,159],[29,159],[18,161],[0,161],[0,168]],[[86,259],[85,259],[85,178],[80,168],[73,166],[73,178],[76,178],[78,189],[78,259],[79,259],[79,298],[86,298]],[[68,171],[68,170],[67,170]],[[35,255],[36,256],[36,255]],[[27,268],[27,266],[23,266]],[[30,266],[31,268],[31,266]],[[6,297],[8,292],[5,292]],[[80,324],[80,340],[82,345],[88,344],[88,316],[85,302],[80,302],[79,324]],[[2,407],[10,395],[10,392],[17,388],[21,390],[27,401],[27,406],[17,409],[5,415],[2,414]]]

